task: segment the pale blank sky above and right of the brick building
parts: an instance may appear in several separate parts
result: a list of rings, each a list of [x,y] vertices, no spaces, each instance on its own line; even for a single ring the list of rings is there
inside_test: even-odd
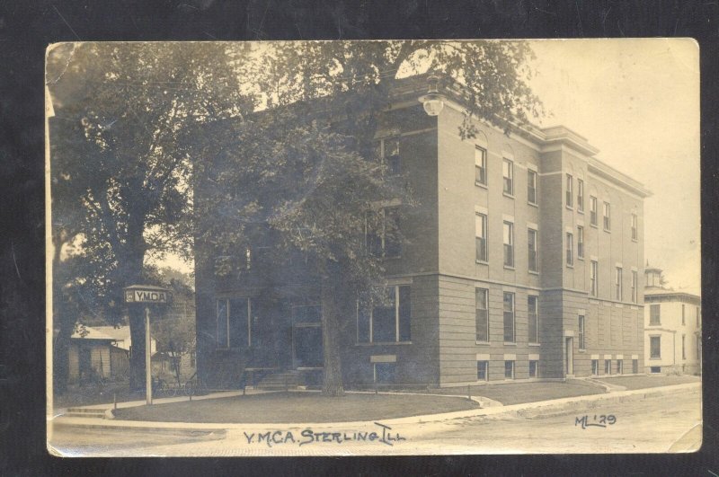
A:
[[[652,191],[644,257],[668,286],[699,294],[699,51],[694,40],[533,40],[530,86],[557,124]],[[163,265],[190,270],[174,257]]]

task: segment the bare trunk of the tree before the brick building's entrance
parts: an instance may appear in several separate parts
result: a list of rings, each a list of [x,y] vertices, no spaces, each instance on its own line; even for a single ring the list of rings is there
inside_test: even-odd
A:
[[[342,356],[340,354],[340,306],[338,305],[337,281],[322,278],[322,346],[324,349],[324,384],[326,396],[344,395],[342,385]]]

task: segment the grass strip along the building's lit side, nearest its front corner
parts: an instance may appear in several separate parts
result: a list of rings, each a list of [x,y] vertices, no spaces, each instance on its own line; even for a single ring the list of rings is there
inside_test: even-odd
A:
[[[507,383],[471,386],[473,396],[483,396],[505,406],[523,402],[546,401],[586,394],[604,393],[604,388],[584,381]],[[433,389],[431,393],[466,396],[466,386]]]

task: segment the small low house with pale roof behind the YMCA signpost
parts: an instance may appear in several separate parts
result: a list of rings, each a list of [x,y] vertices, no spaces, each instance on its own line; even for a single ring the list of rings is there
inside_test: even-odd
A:
[[[76,383],[93,377],[128,377],[131,347],[129,326],[76,327],[70,338],[68,381]],[[150,352],[155,355],[156,349],[157,343],[153,339]]]

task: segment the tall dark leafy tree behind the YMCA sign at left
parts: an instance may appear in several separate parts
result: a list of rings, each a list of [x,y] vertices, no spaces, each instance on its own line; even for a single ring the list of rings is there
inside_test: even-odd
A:
[[[79,213],[70,234],[81,240],[81,281],[110,320],[122,314],[122,288],[145,278],[148,258],[190,253],[188,141],[204,139],[193,134],[200,124],[253,109],[237,83],[240,56],[241,49],[220,43],[82,43],[49,51],[54,120],[67,123],[51,138],[58,153],[51,157],[53,213]],[[64,226],[53,226],[54,243],[67,234]],[[131,313],[129,324],[130,385],[139,387],[142,314]]]

